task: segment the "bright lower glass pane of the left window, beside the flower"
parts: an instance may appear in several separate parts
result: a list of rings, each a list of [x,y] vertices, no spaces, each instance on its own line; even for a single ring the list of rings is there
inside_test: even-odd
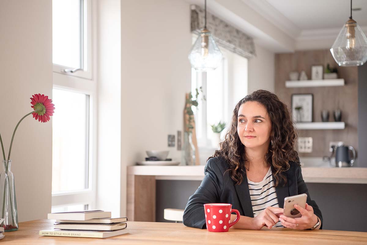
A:
[[[52,193],[89,188],[89,95],[53,89]]]

